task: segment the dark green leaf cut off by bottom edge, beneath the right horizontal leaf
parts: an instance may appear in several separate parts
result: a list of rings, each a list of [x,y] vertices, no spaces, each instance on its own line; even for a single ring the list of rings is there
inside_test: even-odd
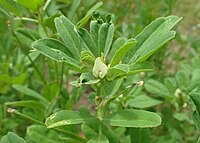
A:
[[[131,143],[150,143],[150,130],[148,128],[131,128]]]

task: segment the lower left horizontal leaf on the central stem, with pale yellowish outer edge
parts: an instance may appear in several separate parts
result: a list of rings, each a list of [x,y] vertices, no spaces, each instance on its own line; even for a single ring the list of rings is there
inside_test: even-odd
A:
[[[85,123],[86,121],[94,120],[95,118],[96,117],[76,111],[62,110],[48,117],[45,124],[48,128],[54,128],[63,125]]]

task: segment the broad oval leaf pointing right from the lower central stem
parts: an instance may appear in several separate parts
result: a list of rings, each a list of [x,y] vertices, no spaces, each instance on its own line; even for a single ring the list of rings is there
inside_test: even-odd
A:
[[[114,112],[106,116],[103,121],[111,126],[136,128],[156,127],[161,124],[161,118],[158,114],[136,109]]]

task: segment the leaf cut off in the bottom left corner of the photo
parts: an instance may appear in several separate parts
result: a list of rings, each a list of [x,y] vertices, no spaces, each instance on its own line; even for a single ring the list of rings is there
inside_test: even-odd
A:
[[[8,132],[7,135],[1,138],[1,143],[26,143],[26,141],[17,134]]]

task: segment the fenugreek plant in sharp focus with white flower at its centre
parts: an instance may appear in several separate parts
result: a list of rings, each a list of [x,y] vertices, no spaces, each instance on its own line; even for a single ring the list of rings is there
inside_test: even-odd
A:
[[[88,31],[83,27],[91,15],[94,20],[90,22]],[[112,14],[107,14],[103,18],[98,11],[90,10],[77,25],[74,25],[67,17],[60,16],[55,19],[55,26],[61,40],[43,38],[32,44],[36,52],[81,73],[72,85],[77,88],[92,85],[95,91],[95,115],[61,110],[53,113],[45,121],[48,128],[82,124],[83,133],[89,134],[88,143],[118,142],[107,133],[107,126],[149,128],[161,124],[160,116],[153,112],[138,109],[121,109],[113,112],[108,108],[113,100],[142,83],[132,83],[118,90],[123,79],[139,72],[153,70],[153,65],[146,60],[174,38],[175,31],[171,29],[181,20],[177,16],[158,18],[135,38],[119,38],[111,48],[115,30],[112,18]],[[107,86],[110,88],[108,92],[105,90]],[[88,133],[89,131],[93,134]]]

